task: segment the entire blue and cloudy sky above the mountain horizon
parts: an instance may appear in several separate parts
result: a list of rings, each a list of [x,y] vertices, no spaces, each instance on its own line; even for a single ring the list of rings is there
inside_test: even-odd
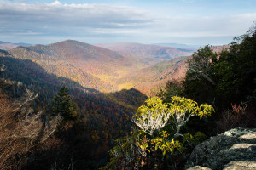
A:
[[[254,21],[256,0],[0,0],[3,42],[223,45]]]

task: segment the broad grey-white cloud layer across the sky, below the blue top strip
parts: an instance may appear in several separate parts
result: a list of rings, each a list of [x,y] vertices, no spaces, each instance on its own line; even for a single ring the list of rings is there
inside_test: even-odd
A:
[[[16,42],[224,43],[245,33],[254,20],[256,13],[172,17],[109,4],[0,3],[1,40]]]

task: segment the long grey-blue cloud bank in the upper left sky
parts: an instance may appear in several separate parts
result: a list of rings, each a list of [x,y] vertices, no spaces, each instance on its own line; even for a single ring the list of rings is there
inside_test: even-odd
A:
[[[1,24],[9,26],[113,27],[148,22],[147,12],[105,4],[0,3]]]

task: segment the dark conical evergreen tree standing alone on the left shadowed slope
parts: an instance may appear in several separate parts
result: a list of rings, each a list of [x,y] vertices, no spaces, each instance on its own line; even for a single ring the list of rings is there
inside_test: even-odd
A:
[[[53,99],[53,112],[55,115],[63,116],[64,121],[75,120],[77,117],[77,107],[65,86],[61,88]]]

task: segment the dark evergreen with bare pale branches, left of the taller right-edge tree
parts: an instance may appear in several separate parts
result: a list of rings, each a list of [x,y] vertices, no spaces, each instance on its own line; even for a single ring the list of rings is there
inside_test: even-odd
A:
[[[188,71],[183,82],[183,93],[186,97],[199,103],[213,104],[214,89],[218,83],[213,73],[216,62],[217,54],[208,45],[192,55],[188,60]]]

